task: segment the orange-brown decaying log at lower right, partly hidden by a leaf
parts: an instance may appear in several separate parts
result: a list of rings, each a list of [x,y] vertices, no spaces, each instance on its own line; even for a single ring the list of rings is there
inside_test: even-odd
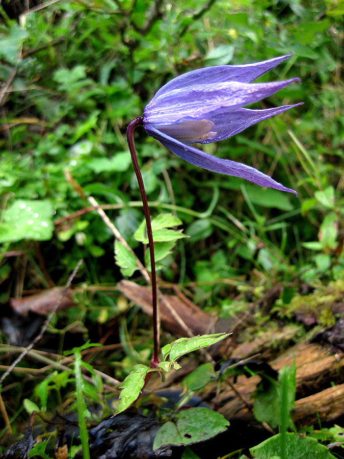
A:
[[[280,370],[285,365],[296,363],[296,402],[292,413],[297,426],[333,421],[344,414],[344,354],[333,354],[315,343],[299,343],[269,362],[272,368]],[[247,403],[251,398],[259,376],[240,376],[235,388]],[[331,387],[331,384],[337,386]],[[253,413],[243,401],[228,388],[219,397],[220,412],[228,419],[253,419]]]

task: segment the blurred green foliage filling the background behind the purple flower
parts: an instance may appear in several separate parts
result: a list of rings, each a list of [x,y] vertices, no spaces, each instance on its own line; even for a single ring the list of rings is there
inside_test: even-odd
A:
[[[176,212],[190,236],[160,261],[159,275],[194,283],[193,300],[224,316],[243,307],[248,283],[256,297],[282,283],[285,306],[302,282],[319,287],[344,277],[342,0],[61,0],[19,23],[1,6],[0,13],[3,304],[64,285],[83,258],[74,279],[83,293],[64,325],[117,317],[116,290],[101,290],[123,278],[114,238],[96,212],[83,209],[88,195],[107,205],[144,262],[134,238],[143,212],[126,125],[180,73],[290,52],[260,81],[300,77],[301,85],[257,107],[304,105],[204,149],[271,174],[299,198],[197,169],[137,130],[152,216]],[[15,250],[21,256],[9,255]],[[133,355],[147,358],[147,346],[129,349],[126,365]]]

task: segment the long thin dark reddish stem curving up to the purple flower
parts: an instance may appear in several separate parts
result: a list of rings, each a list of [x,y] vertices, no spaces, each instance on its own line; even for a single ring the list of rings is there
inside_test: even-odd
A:
[[[157,305],[157,295],[156,295],[156,272],[155,272],[155,258],[154,258],[154,244],[153,244],[153,234],[152,234],[152,226],[150,223],[150,214],[149,214],[149,207],[148,201],[146,196],[145,187],[143,184],[143,179],[139,167],[138,157],[135,148],[134,142],[134,131],[137,126],[143,125],[143,117],[140,116],[139,118],[133,119],[128,124],[126,130],[126,138],[129,145],[129,151],[131,155],[131,161],[134,165],[134,170],[136,173],[136,177],[139,184],[139,189],[142,198],[143,210],[145,213],[146,219],[146,226],[147,226],[147,236],[149,242],[149,252],[150,252],[150,267],[151,267],[151,281],[152,281],[152,304],[153,304],[153,339],[154,339],[154,349],[153,349],[153,356],[151,360],[151,368],[156,368],[157,364],[160,362],[159,359],[159,338],[160,338],[160,314],[158,311]]]

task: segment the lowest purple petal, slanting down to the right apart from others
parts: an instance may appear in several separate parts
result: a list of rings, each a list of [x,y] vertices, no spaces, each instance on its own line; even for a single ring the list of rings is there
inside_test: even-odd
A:
[[[163,145],[169,148],[175,155],[188,163],[194,164],[195,166],[202,167],[213,172],[220,174],[232,175],[234,177],[242,177],[243,179],[249,180],[250,182],[256,183],[261,187],[275,188],[280,191],[288,191],[289,193],[297,192],[286,188],[280,183],[273,180],[269,175],[259,172],[253,167],[247,166],[246,164],[237,163],[231,160],[225,160],[217,158],[216,156],[209,155],[204,151],[198,150],[197,148],[179,142],[173,137],[170,137],[154,127],[148,127],[147,133],[160,141]]]

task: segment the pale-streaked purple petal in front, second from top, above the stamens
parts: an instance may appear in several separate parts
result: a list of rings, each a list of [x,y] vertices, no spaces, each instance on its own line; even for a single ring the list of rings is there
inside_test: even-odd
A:
[[[298,80],[292,78],[271,83],[227,82],[172,91],[158,103],[144,109],[144,121],[158,129],[161,124],[174,124],[185,119],[210,119],[211,113],[225,113],[253,104]]]

